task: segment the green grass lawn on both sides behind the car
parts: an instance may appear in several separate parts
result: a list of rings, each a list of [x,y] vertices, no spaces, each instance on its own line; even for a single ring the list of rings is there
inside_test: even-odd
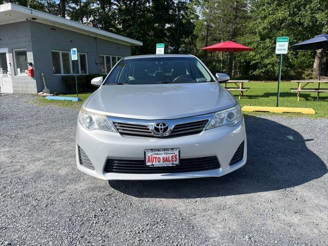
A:
[[[230,84],[232,85],[232,84]],[[245,83],[245,87],[250,87],[248,91],[244,92],[244,95],[239,100],[239,103],[242,106],[267,106],[275,107],[277,101],[277,83],[265,83],[265,82],[250,82]],[[316,86],[316,85],[315,85]],[[278,115],[283,116],[299,116],[299,117],[326,117],[328,118],[328,95],[322,93],[320,100],[315,100],[317,98],[317,93],[301,93],[300,101],[297,101],[296,92],[291,92],[290,88],[296,88],[296,83],[287,83],[282,82],[280,84],[280,107],[295,107],[295,108],[313,108],[316,111],[316,114],[297,114],[297,113],[282,113]],[[312,87],[312,86],[311,86]],[[321,87],[326,87],[322,85]],[[232,91],[232,93],[237,97],[238,92]],[[91,93],[79,93],[79,98],[82,101],[72,102],[72,101],[56,101],[56,100],[46,100],[45,98],[38,98],[37,103],[40,105],[51,104],[63,107],[70,108],[79,108],[83,101]],[[75,94],[63,95],[63,96],[73,96]],[[265,113],[265,112],[244,112],[248,115],[273,115],[274,113]]]

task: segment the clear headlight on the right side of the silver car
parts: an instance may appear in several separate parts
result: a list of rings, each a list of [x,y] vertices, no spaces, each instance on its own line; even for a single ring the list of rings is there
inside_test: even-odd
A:
[[[237,105],[233,108],[218,111],[214,114],[210,124],[206,129],[212,129],[221,126],[234,126],[239,120],[241,120],[242,113],[240,110],[240,106]]]

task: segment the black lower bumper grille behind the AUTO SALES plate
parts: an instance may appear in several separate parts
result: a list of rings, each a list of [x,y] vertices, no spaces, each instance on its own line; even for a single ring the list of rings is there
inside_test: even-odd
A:
[[[147,167],[144,160],[107,159],[104,171],[107,173],[180,173],[220,168],[216,156],[180,159],[175,167]]]

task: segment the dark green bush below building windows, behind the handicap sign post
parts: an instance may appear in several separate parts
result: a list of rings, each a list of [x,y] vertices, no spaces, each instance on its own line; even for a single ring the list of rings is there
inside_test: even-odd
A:
[[[104,74],[84,74],[77,75],[77,89],[78,91],[95,91],[97,88],[91,85],[91,79],[103,76]],[[64,75],[61,80],[65,83],[67,91],[75,91],[75,75]]]

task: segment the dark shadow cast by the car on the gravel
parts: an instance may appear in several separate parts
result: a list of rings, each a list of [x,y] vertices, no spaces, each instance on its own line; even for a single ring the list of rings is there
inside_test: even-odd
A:
[[[302,185],[327,172],[295,130],[260,117],[245,117],[248,160],[219,178],[109,181],[122,193],[147,198],[200,198],[273,191]]]

